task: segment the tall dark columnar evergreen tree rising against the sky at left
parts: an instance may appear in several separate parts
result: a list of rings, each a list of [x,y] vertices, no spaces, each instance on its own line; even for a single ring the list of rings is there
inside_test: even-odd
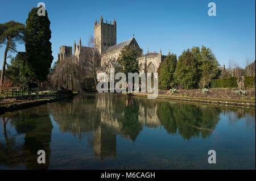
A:
[[[39,8],[33,8],[26,20],[26,55],[27,69],[25,74],[31,81],[45,81],[51,68],[53,56],[51,50],[50,21],[45,16],[38,16]]]

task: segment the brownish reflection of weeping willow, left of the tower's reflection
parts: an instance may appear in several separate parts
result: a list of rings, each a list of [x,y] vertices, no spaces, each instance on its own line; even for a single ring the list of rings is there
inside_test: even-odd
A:
[[[79,96],[73,101],[49,104],[48,108],[61,132],[71,132],[81,139],[82,133],[92,132],[93,127],[99,124],[100,115],[96,113],[95,106],[95,99]]]

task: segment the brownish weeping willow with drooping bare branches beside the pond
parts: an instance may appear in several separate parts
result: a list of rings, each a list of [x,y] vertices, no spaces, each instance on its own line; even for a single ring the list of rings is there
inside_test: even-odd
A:
[[[86,66],[79,64],[75,56],[65,57],[56,65],[50,80],[54,87],[63,86],[65,89],[82,91],[87,77]]]

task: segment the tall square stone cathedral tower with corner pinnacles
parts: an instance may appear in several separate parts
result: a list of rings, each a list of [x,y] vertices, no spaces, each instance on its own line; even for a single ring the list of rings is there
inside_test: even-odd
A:
[[[97,19],[94,23],[94,46],[99,50],[100,54],[104,54],[109,47],[117,44],[117,22],[103,23],[101,15],[100,21]]]

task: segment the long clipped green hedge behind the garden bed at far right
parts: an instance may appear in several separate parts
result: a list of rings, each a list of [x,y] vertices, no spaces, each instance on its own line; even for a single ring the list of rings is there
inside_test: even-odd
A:
[[[237,77],[226,77],[210,81],[210,88],[238,87]],[[245,87],[255,87],[255,77],[245,77]]]

